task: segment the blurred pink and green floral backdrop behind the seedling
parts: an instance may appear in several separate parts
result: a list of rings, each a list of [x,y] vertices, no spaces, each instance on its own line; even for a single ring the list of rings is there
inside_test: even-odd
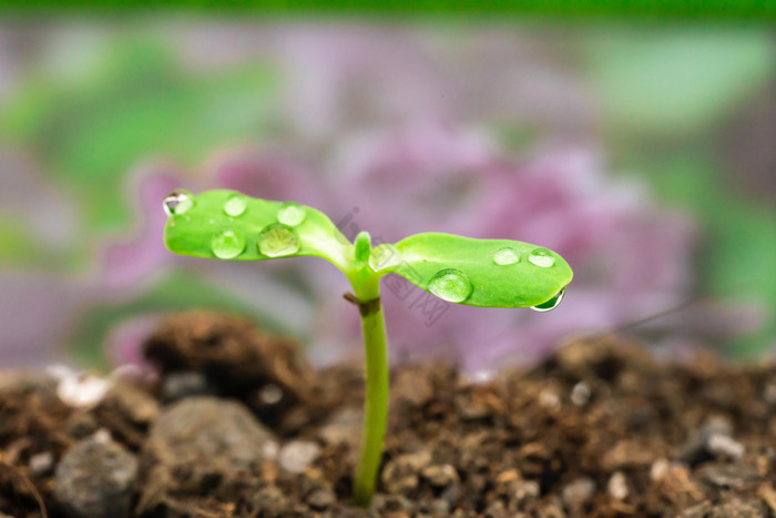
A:
[[[547,314],[388,280],[395,360],[488,372],[619,327],[680,356],[776,351],[768,28],[8,18],[3,367],[140,363],[160,316],[195,307],[297,336],[319,365],[361,354],[330,265],[167,253],[176,186],[310,204],[349,237],[527,241],[574,268]]]

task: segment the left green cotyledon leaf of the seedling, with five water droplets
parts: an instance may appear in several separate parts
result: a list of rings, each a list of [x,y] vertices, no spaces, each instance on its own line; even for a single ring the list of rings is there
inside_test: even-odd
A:
[[[164,200],[164,243],[176,254],[234,261],[316,255],[347,267],[353,244],[320,211],[215,190]]]

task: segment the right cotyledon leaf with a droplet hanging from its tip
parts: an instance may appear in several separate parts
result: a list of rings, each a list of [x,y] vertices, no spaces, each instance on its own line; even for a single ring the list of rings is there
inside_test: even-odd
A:
[[[483,307],[544,308],[573,276],[563,257],[540,246],[442,233],[376,246],[370,265],[445,301]]]

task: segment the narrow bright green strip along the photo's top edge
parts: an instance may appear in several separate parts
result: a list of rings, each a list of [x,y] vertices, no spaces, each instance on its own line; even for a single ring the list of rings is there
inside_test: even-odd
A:
[[[572,17],[774,19],[776,0],[0,0],[1,10],[29,12],[45,8],[89,12],[142,8],[185,11],[253,11],[256,13],[356,14],[543,14]]]

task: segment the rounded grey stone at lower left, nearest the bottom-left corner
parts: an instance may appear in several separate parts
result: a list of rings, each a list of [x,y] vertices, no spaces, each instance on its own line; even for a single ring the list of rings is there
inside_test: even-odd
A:
[[[129,517],[137,459],[113,440],[85,439],[64,454],[54,498],[74,518]]]

